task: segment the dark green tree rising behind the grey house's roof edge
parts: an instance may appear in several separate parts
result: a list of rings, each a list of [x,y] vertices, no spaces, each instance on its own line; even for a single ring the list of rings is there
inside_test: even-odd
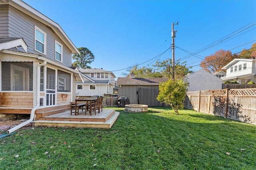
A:
[[[76,60],[73,63],[73,66],[76,66],[81,69],[91,68],[88,64],[91,64],[95,58],[92,51],[90,51],[86,47],[79,47],[78,51],[80,52],[80,55],[75,54],[72,57],[74,60]]]

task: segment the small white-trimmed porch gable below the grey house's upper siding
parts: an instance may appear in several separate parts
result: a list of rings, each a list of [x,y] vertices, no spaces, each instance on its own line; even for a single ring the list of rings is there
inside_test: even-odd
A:
[[[25,52],[27,52],[28,45],[23,40],[23,38],[16,38],[16,37],[6,37],[0,38],[0,51],[2,49],[10,49],[13,47],[21,46]]]

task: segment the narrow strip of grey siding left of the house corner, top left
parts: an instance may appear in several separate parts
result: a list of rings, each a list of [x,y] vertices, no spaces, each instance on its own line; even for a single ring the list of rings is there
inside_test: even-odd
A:
[[[8,5],[0,6],[0,37],[8,37]]]

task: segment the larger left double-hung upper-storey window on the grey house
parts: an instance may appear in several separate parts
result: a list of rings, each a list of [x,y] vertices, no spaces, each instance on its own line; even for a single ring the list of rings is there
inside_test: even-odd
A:
[[[46,33],[35,26],[35,51],[46,55]]]

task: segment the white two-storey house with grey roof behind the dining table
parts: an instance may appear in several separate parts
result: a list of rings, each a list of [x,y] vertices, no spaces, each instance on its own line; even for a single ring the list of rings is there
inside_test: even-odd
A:
[[[82,81],[76,83],[76,96],[92,97],[113,94],[116,76],[104,69],[78,69]]]

